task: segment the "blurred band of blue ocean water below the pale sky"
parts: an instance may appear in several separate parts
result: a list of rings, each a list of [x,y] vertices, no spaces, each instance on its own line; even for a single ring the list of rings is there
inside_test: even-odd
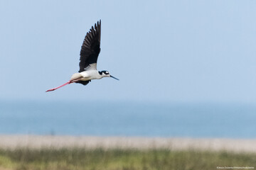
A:
[[[256,137],[256,107],[221,103],[1,101],[0,134]]]

